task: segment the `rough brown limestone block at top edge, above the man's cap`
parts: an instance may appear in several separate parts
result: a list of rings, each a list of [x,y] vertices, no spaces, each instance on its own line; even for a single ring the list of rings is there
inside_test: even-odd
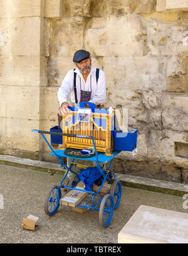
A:
[[[91,0],[64,0],[63,1],[63,16],[86,16],[90,17],[90,2]]]

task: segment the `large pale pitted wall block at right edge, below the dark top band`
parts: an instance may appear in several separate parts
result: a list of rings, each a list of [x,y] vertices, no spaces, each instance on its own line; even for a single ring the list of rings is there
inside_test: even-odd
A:
[[[147,23],[147,46],[153,56],[187,55],[185,26],[164,24],[154,19]]]

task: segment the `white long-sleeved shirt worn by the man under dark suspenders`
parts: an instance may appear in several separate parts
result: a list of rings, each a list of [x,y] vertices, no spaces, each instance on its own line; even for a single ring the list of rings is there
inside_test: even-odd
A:
[[[81,74],[78,68],[75,71],[72,69],[68,73],[66,73],[65,78],[61,84],[61,87],[58,89],[58,100],[60,102],[60,107],[63,102],[68,101],[68,97],[70,96],[71,102],[75,103],[75,92],[74,92],[74,74],[76,72],[76,92],[77,99],[80,102],[80,86],[83,91],[91,91],[91,99],[89,102],[98,102],[99,104],[103,104],[106,99],[106,84],[105,84],[105,73],[100,70],[98,82],[96,81],[96,68],[91,67],[90,73],[87,77],[87,80],[83,79],[83,75]],[[81,84],[80,84],[81,82]]]

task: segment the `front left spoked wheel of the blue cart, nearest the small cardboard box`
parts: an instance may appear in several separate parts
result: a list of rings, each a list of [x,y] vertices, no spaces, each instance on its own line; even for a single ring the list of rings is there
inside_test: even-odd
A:
[[[46,215],[55,215],[56,211],[60,206],[61,189],[57,185],[53,185],[46,194],[44,203],[44,211]]]

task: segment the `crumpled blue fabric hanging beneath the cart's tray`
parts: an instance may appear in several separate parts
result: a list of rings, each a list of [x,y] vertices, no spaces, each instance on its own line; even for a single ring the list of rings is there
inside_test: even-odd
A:
[[[97,167],[88,167],[82,171],[79,176],[81,181],[85,184],[85,190],[91,191],[94,181],[102,177],[102,174]]]

